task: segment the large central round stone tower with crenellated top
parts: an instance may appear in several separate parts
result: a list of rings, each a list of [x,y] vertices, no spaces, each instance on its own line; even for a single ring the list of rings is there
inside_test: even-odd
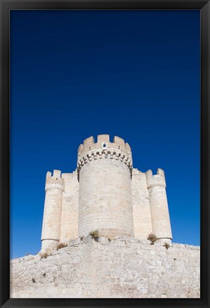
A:
[[[98,230],[100,236],[134,235],[132,153],[122,138],[109,135],[84,140],[78,148],[78,235]]]

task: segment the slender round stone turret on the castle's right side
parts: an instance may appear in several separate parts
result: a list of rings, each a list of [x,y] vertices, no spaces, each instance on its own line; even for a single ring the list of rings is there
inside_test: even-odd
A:
[[[152,233],[161,242],[170,244],[172,242],[172,229],[169,218],[164,170],[157,169],[157,175],[152,175],[152,170],[148,170],[146,177],[147,188],[149,190]]]

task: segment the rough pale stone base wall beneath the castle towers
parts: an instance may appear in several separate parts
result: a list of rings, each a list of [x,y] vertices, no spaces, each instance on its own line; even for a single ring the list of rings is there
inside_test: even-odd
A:
[[[88,236],[47,258],[11,260],[11,297],[199,298],[199,255],[195,246]]]

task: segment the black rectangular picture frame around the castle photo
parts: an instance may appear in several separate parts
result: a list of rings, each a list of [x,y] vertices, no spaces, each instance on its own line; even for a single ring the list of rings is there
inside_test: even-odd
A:
[[[206,0],[0,0],[1,20],[1,307],[210,307],[209,306],[209,65],[210,4]],[[9,295],[9,14],[32,9],[199,9],[201,13],[201,298],[10,299]]]

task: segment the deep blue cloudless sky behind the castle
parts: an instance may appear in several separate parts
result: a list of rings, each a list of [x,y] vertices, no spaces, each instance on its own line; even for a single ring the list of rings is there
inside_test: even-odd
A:
[[[41,248],[46,172],[83,139],[165,171],[174,242],[199,245],[199,11],[11,11],[11,257]]]

